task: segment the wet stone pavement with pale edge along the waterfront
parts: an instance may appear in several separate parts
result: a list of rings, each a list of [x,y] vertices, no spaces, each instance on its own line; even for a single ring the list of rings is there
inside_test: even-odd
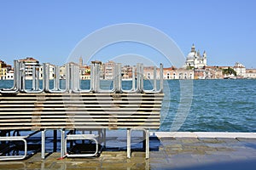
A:
[[[24,161],[0,161],[0,169],[254,169],[255,133],[151,133],[150,158],[132,139],[131,159],[126,158],[125,136],[107,141],[96,158],[65,158],[59,152],[41,160],[37,153]],[[110,142],[110,144],[108,144]],[[137,144],[136,144],[137,143]],[[115,146],[115,147],[114,147]]]

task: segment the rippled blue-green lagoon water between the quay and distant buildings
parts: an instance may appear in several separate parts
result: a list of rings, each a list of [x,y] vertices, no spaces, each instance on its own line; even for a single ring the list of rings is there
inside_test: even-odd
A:
[[[53,82],[50,83],[52,86]],[[89,84],[83,81],[82,87]],[[13,81],[0,81],[0,88],[12,85]],[[144,86],[151,88],[151,83],[145,81]],[[105,83],[106,87],[111,84]],[[131,88],[131,82],[125,81],[123,87]],[[184,95],[188,99],[181,103],[181,89],[187,93],[187,88],[193,91],[188,91],[191,94]],[[256,132],[256,80],[168,80],[164,91],[159,131],[172,131],[172,127],[177,127],[178,131],[191,132]],[[179,107],[188,112],[178,114]]]

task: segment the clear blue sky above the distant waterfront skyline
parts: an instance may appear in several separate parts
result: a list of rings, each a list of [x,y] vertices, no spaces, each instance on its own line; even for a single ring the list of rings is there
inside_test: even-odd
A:
[[[0,59],[13,64],[14,59],[32,56],[42,63],[62,65],[91,32],[138,23],[165,32],[185,56],[195,43],[201,53],[207,51],[208,65],[239,61],[256,68],[255,8],[253,0],[0,0]],[[137,53],[133,50],[128,52]],[[104,55],[103,61],[112,59],[109,51],[96,59],[100,55]],[[156,54],[148,54],[148,58],[155,59]]]

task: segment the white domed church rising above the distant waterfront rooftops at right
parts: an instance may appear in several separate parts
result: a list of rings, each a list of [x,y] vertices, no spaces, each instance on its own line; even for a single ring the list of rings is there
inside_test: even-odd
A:
[[[204,53],[201,55],[199,50],[195,50],[195,45],[193,44],[191,47],[191,51],[189,52],[185,67],[189,69],[197,69],[197,68],[203,68],[207,66],[207,53],[204,51]]]

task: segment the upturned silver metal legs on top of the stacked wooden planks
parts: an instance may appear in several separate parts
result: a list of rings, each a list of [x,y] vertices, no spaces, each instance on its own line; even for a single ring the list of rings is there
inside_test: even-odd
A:
[[[81,89],[80,87],[80,74],[79,65],[74,63],[68,63],[65,65],[65,88],[61,88],[61,77],[60,77],[60,66],[51,65],[53,69],[53,88],[49,87],[49,69],[50,64],[44,63],[42,66],[33,65],[32,73],[32,88],[26,88],[26,65],[19,60],[14,62],[14,86],[13,88],[0,89],[1,94],[18,94],[20,93],[52,93],[52,94],[63,94],[63,93],[145,93],[145,94],[157,94],[163,92],[163,65],[160,64],[159,80],[160,87],[157,88],[157,68],[154,66],[154,80],[153,88],[150,90],[144,89],[144,75],[143,75],[143,64],[137,64],[132,67],[132,78],[131,78],[131,89],[125,90],[122,88],[122,71],[121,64],[116,63],[113,66],[113,88],[102,89],[101,88],[101,68],[98,63],[90,65],[90,88]],[[41,73],[40,73],[41,70]],[[43,81],[40,87],[40,80]]]

